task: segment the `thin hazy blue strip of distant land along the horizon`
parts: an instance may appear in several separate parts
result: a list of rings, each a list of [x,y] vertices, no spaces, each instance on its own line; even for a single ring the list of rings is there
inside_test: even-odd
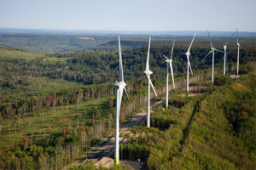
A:
[[[212,37],[230,37],[236,31],[209,31]],[[0,34],[60,34],[60,35],[125,35],[125,36],[160,36],[160,37],[207,37],[207,31],[108,31],[108,30],[66,30],[66,29],[33,29],[0,27]],[[240,37],[256,37],[254,31],[239,31]]]

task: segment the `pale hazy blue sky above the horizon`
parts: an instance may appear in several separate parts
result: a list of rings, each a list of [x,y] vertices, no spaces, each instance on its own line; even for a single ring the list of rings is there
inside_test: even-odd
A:
[[[1,0],[0,27],[256,31],[256,0]]]

